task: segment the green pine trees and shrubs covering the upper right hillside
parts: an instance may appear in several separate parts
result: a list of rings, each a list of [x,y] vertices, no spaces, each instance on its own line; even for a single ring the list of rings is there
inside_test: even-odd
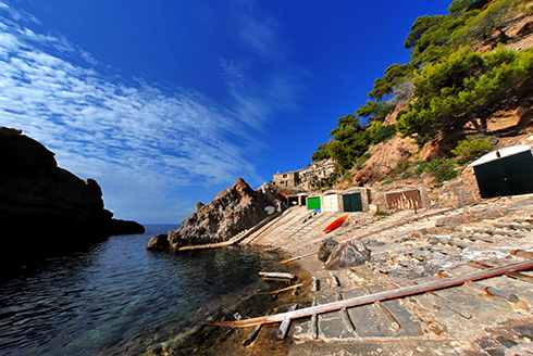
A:
[[[420,145],[435,138],[454,141],[455,150],[442,157],[446,165],[455,164],[454,154],[466,163],[486,152],[493,144],[487,120],[500,110],[516,109],[533,91],[533,48],[505,47],[515,40],[506,26],[532,14],[531,1],[525,0],[457,0],[447,15],[417,18],[404,43],[410,62],[386,68],[367,103],[355,115],[340,117],[329,142],[319,145],[311,158],[332,157],[344,174],[369,158],[371,144],[397,131]],[[529,36],[531,24],[518,35]],[[395,109],[396,125],[385,125]],[[474,134],[474,142],[464,140]],[[401,170],[398,165],[396,170]],[[416,170],[427,166],[420,163]]]

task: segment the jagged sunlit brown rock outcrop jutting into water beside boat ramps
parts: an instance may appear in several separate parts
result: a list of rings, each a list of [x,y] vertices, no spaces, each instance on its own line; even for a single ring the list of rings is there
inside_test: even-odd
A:
[[[238,178],[209,204],[197,203],[196,211],[181,227],[168,233],[168,243],[163,241],[164,236],[157,236],[148,242],[148,249],[177,250],[186,245],[227,241],[266,218],[268,206],[282,212],[287,207],[286,199],[269,183],[252,190],[243,178]]]

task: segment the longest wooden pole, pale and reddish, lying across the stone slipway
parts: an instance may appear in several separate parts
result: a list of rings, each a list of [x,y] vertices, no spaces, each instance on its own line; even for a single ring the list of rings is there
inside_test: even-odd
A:
[[[508,272],[515,272],[528,268],[533,268],[533,260],[530,259],[517,264],[505,265],[501,267],[494,267],[482,271],[446,279],[444,281],[435,281],[435,282],[429,282],[424,284],[404,287],[396,290],[384,291],[370,295],[356,296],[344,301],[333,302],[329,304],[321,304],[317,306],[311,306],[311,307],[297,309],[293,312],[286,312],[272,316],[243,319],[237,321],[222,321],[222,322],[215,322],[214,325],[246,328],[246,327],[255,327],[260,323],[274,323],[287,319],[288,320],[299,319],[299,318],[310,317],[314,314],[323,314],[323,313],[339,310],[342,308],[350,308],[359,305],[365,305],[365,304],[374,303],[375,301],[388,301],[398,297],[425,293],[427,291],[436,291],[450,287],[457,287],[466,282],[497,277]]]

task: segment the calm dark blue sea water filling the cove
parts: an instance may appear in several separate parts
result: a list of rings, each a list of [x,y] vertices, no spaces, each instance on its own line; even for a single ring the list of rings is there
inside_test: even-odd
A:
[[[278,256],[231,247],[169,254],[146,250],[173,226],[111,237],[50,257],[0,281],[0,355],[144,354],[186,336],[264,288]],[[160,347],[160,346],[159,346]]]

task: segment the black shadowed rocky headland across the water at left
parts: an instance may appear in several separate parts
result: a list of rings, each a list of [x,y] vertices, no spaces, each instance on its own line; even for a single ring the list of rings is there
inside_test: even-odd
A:
[[[53,152],[42,144],[0,127],[0,226],[9,237],[2,250],[9,251],[5,244],[17,250],[66,246],[145,231],[135,221],[112,217],[96,180],[58,167]]]

